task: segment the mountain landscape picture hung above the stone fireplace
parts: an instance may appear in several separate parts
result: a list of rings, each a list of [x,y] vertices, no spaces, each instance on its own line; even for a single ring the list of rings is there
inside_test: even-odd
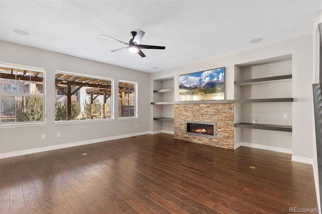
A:
[[[179,76],[179,100],[225,99],[225,67]]]

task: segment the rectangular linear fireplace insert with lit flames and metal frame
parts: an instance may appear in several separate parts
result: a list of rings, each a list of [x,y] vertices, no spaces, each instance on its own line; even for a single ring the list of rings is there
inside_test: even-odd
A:
[[[216,139],[216,123],[186,121],[185,134]]]

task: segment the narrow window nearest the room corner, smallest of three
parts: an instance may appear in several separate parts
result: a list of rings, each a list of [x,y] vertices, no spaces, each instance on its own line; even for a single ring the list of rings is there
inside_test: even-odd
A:
[[[119,80],[119,117],[137,117],[137,82]]]

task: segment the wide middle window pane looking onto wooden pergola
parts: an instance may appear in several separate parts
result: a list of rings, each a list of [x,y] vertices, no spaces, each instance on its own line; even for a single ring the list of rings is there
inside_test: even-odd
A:
[[[112,119],[113,79],[55,72],[55,121]]]

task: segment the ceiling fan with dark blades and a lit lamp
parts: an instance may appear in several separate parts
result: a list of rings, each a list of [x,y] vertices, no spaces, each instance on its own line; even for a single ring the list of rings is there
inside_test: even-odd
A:
[[[145,57],[145,55],[141,51],[141,49],[163,49],[163,50],[166,49],[166,47],[164,47],[164,46],[140,45],[141,39],[144,36],[144,34],[145,33],[143,31],[139,31],[138,33],[136,33],[135,31],[131,31],[131,35],[133,38],[130,39],[130,41],[128,43],[114,39],[109,36],[105,36],[105,35],[101,35],[101,36],[108,38],[110,40],[122,43],[124,45],[128,45],[127,47],[115,49],[115,50],[112,50],[111,52],[116,52],[116,51],[120,51],[120,50],[124,50],[124,49],[128,48],[131,53],[138,53],[141,57]]]

